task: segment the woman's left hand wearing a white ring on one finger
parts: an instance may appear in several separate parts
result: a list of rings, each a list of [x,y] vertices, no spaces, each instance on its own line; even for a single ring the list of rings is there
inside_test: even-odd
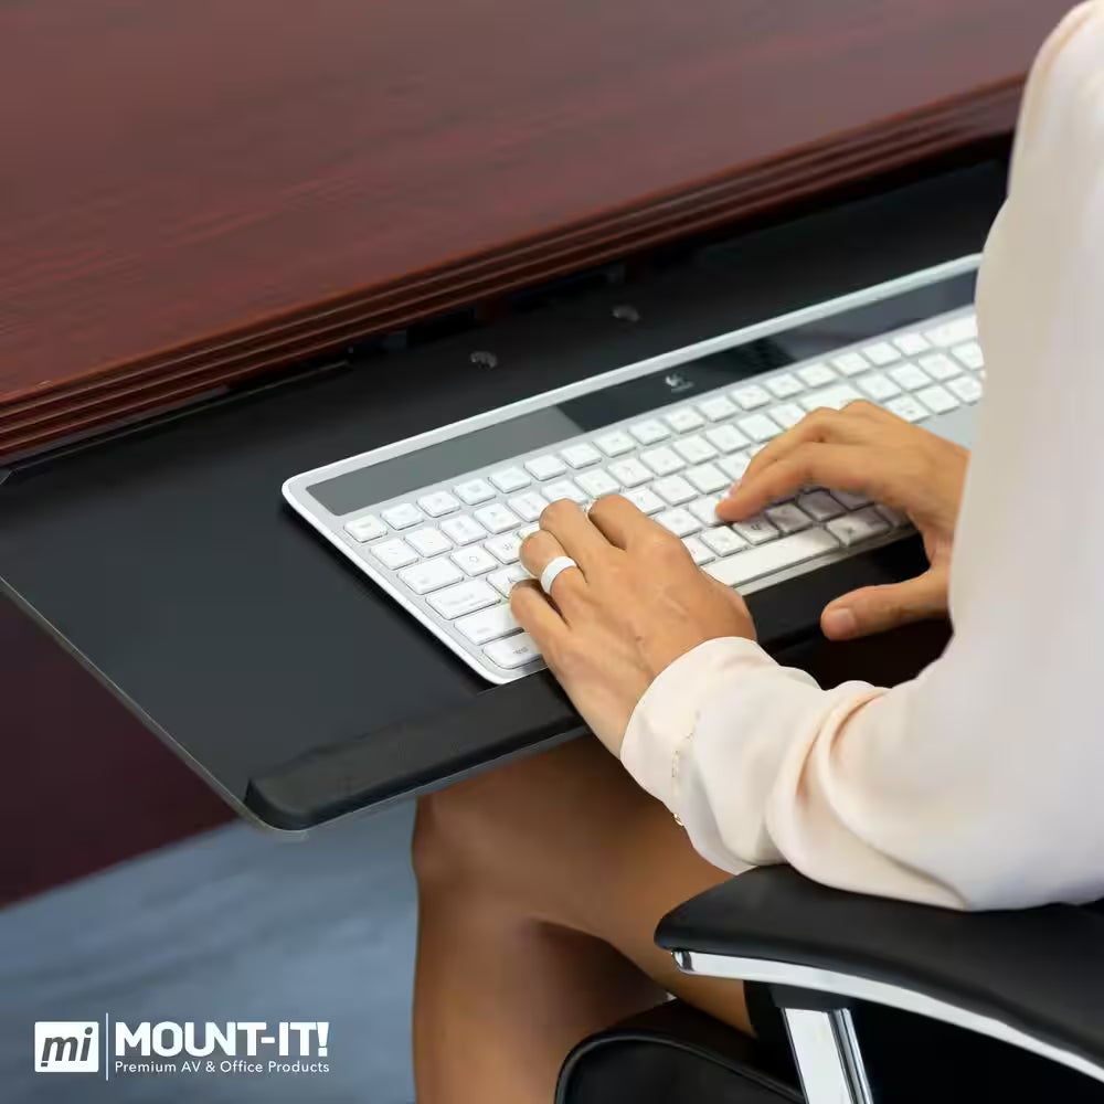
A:
[[[553,502],[521,545],[537,577],[556,556],[546,597],[519,583],[510,608],[598,739],[619,754],[633,710],[664,668],[705,640],[754,639],[743,598],[704,574],[682,542],[619,495],[584,513]]]

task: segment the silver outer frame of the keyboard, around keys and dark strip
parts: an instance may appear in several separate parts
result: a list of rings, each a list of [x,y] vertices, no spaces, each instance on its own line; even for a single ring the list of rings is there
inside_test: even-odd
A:
[[[853,310],[858,307],[864,307],[882,299],[903,295],[907,291],[913,291],[931,284],[937,284],[943,280],[952,279],[956,276],[967,275],[976,272],[979,263],[980,255],[974,254],[946,264],[925,268],[916,273],[911,273],[907,276],[902,276],[896,279],[873,285],[869,288],[863,288],[860,291],[853,291],[849,295],[828,299],[810,307],[804,307],[799,310],[789,311],[785,315],[778,315],[774,318],[756,322],[752,326],[732,330],[728,333],[722,333],[704,341],[698,341],[693,344],[684,346],[680,349],[675,349],[657,357],[650,357],[647,360],[637,361],[633,364],[626,364],[623,368],[613,369],[608,372],[602,372],[576,383],[555,388],[551,391],[545,391],[528,399],[509,403],[505,406],[498,406],[473,417],[464,418],[459,422],[453,422],[448,425],[438,426],[437,428],[429,429],[425,433],[416,434],[413,437],[406,437],[402,440],[396,440],[392,444],[370,449],[367,453],[349,456],[344,459],[327,464],[322,467],[314,468],[309,471],[300,473],[287,479],[283,485],[284,498],[305,521],[317,530],[318,533],[320,533],[335,548],[339,549],[346,556],[348,556],[360,571],[364,572],[407,613],[412,614],[420,624],[433,633],[434,636],[436,636],[458,657],[463,658],[480,676],[498,684],[512,682],[514,679],[523,678],[534,671],[542,670],[544,668],[544,664],[538,660],[527,664],[524,667],[517,668],[512,671],[502,670],[501,673],[493,670],[489,664],[481,660],[481,652],[478,648],[467,647],[463,641],[459,641],[457,637],[450,636],[437,624],[438,615],[432,609],[427,609],[423,596],[414,595],[413,593],[404,593],[404,591],[400,590],[399,585],[396,585],[385,572],[378,570],[368,554],[368,545],[354,541],[344,530],[346,522],[358,516],[369,512],[379,512],[381,508],[386,508],[388,503],[391,501],[413,500],[418,495],[424,495],[429,490],[437,489],[438,485],[434,484],[427,485],[426,487],[411,488],[401,496],[396,496],[393,500],[385,500],[382,503],[367,503],[362,507],[358,507],[355,510],[351,510],[348,513],[340,516],[330,513],[310,495],[308,488],[314,484],[321,482],[327,479],[347,475],[351,471],[357,471],[361,468],[370,467],[375,464],[382,464],[386,460],[393,460],[396,457],[427,448],[432,445],[438,445],[445,440],[463,437],[467,434],[484,429],[490,425],[505,422],[509,418],[520,417],[526,414],[531,414],[534,411],[543,410],[549,406],[555,406],[569,400],[577,399],[595,391],[602,391],[606,388],[615,386],[620,383],[626,383],[628,381],[639,379],[640,376],[649,375],[654,372],[661,372],[668,369],[678,368],[680,364],[684,364],[689,361],[699,360],[713,353],[723,352],[726,349],[746,344],[761,338],[771,337],[772,335],[784,330],[794,329],[825,318],[830,318],[834,315]],[[952,317],[959,312],[960,311],[949,311],[947,312],[947,316]],[[874,340],[875,337],[877,336],[872,335],[871,338],[868,339],[867,343],[869,343],[869,340]],[[840,351],[842,352],[848,348],[851,347],[840,346]],[[822,359],[822,355],[810,358],[810,360]],[[806,362],[795,362],[793,365],[786,365],[785,370],[789,371],[799,368],[804,363]],[[747,376],[745,380],[732,381],[730,384],[718,390],[731,390],[737,384],[737,382],[740,385],[747,385],[755,382],[761,376],[772,375],[777,371],[782,371],[782,369],[772,369],[761,373],[760,375]],[[696,395],[694,401],[701,401],[702,399],[708,397],[709,394],[710,393],[702,393],[700,395]],[[671,405],[679,402],[680,400],[672,395]],[[662,408],[662,406],[656,407],[657,411]],[[635,422],[646,416],[648,416],[648,414],[641,413],[627,421]],[[935,416],[931,421],[937,425],[940,417]],[[611,423],[611,427],[617,425],[619,425],[617,422]],[[602,427],[591,433],[580,433],[577,436],[580,438],[590,439],[604,432],[608,432],[607,427]],[[534,449],[533,455],[562,448],[573,439],[575,438],[569,437],[563,442],[545,445],[540,449]],[[506,463],[513,463],[517,460],[517,463],[520,464],[528,455],[529,454],[526,453],[519,454],[518,456],[503,456],[486,468],[474,469],[471,471],[458,471],[455,476],[450,476],[448,479],[442,481],[439,486],[442,488],[448,488],[461,478],[469,479],[476,478],[480,475],[485,476],[487,473],[500,468]],[[570,476],[570,473],[567,475]],[[469,509],[468,512],[470,513],[471,510]],[[911,531],[911,529],[898,529],[862,543],[846,548],[841,546],[838,550],[826,552],[824,555],[817,556],[813,560],[804,561],[799,564],[782,569],[781,571],[769,575],[764,575],[747,585],[740,586],[739,590],[742,594],[750,594],[755,591],[764,590],[768,586],[777,585],[778,583],[785,582],[786,580],[797,575],[803,575],[809,571],[816,571],[819,567],[840,560],[846,560],[859,552],[900,540],[902,537],[907,535]],[[458,644],[460,645],[459,648],[457,647]]]

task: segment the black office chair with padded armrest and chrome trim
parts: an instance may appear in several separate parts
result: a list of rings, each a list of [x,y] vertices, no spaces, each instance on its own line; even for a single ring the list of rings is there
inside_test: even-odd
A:
[[[765,983],[793,1061],[670,1001],[580,1043],[556,1104],[1104,1102],[1104,902],[956,913],[773,868],[656,938],[689,973]]]

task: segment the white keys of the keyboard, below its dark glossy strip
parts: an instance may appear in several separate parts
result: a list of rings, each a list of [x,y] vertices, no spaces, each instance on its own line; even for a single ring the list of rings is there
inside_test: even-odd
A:
[[[810,411],[857,399],[937,428],[943,416],[981,397],[984,369],[967,307],[457,470],[346,514],[333,516],[310,493],[328,469],[289,480],[285,495],[466,662],[506,682],[543,666],[511,616],[508,596],[528,577],[518,552],[550,502],[624,495],[679,537],[703,571],[755,590],[907,528],[893,510],[824,489],[744,522],[719,523],[716,502],[758,448]],[[362,459],[370,464],[372,455]],[[355,467],[340,467],[350,465]]]

